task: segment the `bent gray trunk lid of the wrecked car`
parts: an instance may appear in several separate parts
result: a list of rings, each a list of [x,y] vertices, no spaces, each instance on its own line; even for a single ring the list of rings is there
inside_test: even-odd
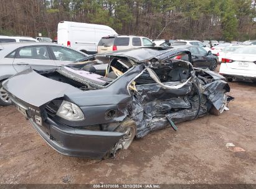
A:
[[[46,78],[32,69],[17,73],[4,81],[3,86],[10,93],[11,98],[15,99],[17,96],[22,101],[36,107],[52,99],[63,97],[70,91],[74,93],[80,91],[69,84]]]

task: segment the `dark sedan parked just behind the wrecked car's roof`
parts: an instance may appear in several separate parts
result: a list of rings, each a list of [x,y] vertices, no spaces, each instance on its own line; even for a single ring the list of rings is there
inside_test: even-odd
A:
[[[204,48],[194,45],[183,45],[174,48],[186,48],[191,52],[192,65],[196,68],[209,68],[209,70],[216,70],[218,65],[218,58],[212,55],[211,51],[206,52]],[[179,58],[179,57],[178,57]]]

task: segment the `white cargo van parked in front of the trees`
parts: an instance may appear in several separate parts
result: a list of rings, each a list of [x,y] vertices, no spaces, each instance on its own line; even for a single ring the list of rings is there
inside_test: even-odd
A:
[[[97,53],[98,42],[107,35],[116,35],[107,25],[62,21],[58,24],[58,44],[87,54]]]

